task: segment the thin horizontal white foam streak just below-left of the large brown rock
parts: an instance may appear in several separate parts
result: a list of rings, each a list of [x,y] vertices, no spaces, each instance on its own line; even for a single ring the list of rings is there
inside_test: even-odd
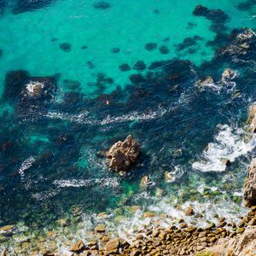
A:
[[[53,184],[60,188],[80,188],[80,187],[89,187],[95,185],[101,185],[102,187],[119,187],[119,178],[118,177],[106,177],[106,178],[91,178],[91,179],[60,179],[55,180]]]

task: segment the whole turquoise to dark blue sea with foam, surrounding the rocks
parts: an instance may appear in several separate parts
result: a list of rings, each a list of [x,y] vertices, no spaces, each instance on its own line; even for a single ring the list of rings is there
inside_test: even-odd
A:
[[[202,225],[216,220],[215,213],[236,220],[246,211],[241,192],[255,146],[245,124],[256,97],[255,34],[246,55],[219,52],[238,44],[242,27],[255,29],[253,1],[201,1],[222,10],[214,18],[193,15],[199,3],[186,0],[109,0],[107,9],[59,0],[19,14],[16,2],[5,2],[0,226],[16,229],[1,248],[14,249],[19,236],[36,241],[32,234],[58,230],[60,218],[71,222],[57,231],[64,242],[89,240],[102,222],[132,236],[148,224],[145,211],[166,213],[163,225],[185,218],[180,208],[189,204],[204,215]],[[149,43],[157,47],[145,49]],[[147,68],[136,70],[137,61]],[[121,71],[122,64],[131,69]],[[236,77],[221,79],[225,67]],[[23,71],[9,73],[17,70]],[[206,75],[215,83],[199,90],[196,81]],[[29,96],[36,82],[44,84],[44,95]],[[97,151],[128,134],[142,154],[119,177]],[[143,176],[150,179],[147,189],[140,188]],[[58,247],[65,251],[63,242]]]

